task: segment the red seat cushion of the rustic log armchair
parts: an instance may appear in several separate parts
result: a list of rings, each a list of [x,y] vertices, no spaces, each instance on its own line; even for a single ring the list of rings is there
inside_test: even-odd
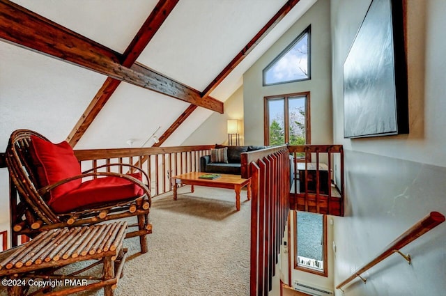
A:
[[[142,180],[140,173],[132,173],[130,176]],[[82,182],[77,189],[53,198],[49,201],[49,206],[56,213],[65,213],[114,201],[130,200],[142,194],[141,187],[124,178],[97,178]]]

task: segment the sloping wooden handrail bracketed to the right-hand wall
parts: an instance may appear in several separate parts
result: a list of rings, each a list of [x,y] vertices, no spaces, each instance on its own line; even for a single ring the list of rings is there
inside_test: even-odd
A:
[[[341,288],[345,286],[347,283],[350,283],[353,281],[353,279],[359,277],[364,283],[367,281],[367,279],[364,279],[361,274],[369,270],[371,267],[374,267],[376,264],[383,261],[388,256],[398,253],[401,256],[403,256],[404,259],[408,261],[410,264],[410,255],[405,255],[401,253],[400,249],[406,246],[406,244],[409,244],[410,242],[413,242],[413,240],[416,240],[418,237],[424,235],[424,233],[430,231],[432,228],[435,228],[439,224],[442,224],[445,221],[445,216],[440,214],[439,212],[431,212],[429,215],[424,217],[422,220],[418,221],[415,225],[410,227],[405,233],[397,237],[396,240],[391,242],[385,250],[376,256],[373,260],[371,260],[366,265],[360,267],[357,269],[351,276],[348,276],[348,278],[339,285],[336,286],[337,289],[342,290]]]

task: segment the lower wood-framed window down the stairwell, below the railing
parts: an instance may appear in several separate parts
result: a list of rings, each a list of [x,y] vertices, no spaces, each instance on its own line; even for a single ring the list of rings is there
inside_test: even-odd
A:
[[[327,216],[294,211],[294,269],[328,276]]]

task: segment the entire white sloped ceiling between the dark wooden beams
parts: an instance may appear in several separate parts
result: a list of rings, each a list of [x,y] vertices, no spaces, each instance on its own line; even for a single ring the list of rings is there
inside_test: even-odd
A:
[[[316,0],[300,0],[247,58],[210,93],[224,102],[243,83],[242,75]],[[125,52],[156,0],[15,0],[86,38]],[[203,91],[286,0],[180,0],[139,55],[137,62]],[[62,141],[107,77],[0,42],[0,137],[30,128]],[[160,127],[160,136],[190,104],[122,83],[93,120],[76,148],[141,147]],[[198,107],[164,146],[180,145],[213,111]],[[151,146],[149,140],[145,146]],[[1,150],[6,143],[1,141]]]

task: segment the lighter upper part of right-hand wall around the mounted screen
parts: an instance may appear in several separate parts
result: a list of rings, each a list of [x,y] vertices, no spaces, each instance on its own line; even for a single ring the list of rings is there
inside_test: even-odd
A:
[[[408,91],[410,133],[376,139],[344,139],[342,94],[343,65],[355,34],[369,8],[370,0],[332,1],[332,52],[334,139],[344,148],[434,165],[446,165],[445,134],[442,122],[446,101],[444,94],[446,68],[445,1],[408,0]],[[440,38],[439,38],[440,37]],[[373,143],[373,145],[371,145]]]

